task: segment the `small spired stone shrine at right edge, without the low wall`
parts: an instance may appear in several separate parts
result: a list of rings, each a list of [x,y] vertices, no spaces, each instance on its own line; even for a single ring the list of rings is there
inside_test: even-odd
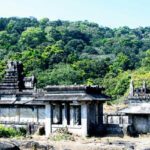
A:
[[[120,110],[121,114],[128,115],[128,130],[131,134],[150,133],[150,89],[146,83],[140,88],[134,88],[131,81],[128,96],[129,106]]]

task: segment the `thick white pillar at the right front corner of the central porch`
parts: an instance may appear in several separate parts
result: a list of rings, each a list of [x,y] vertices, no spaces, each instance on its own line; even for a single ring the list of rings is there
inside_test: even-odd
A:
[[[86,137],[88,134],[88,106],[86,103],[81,105],[81,125],[82,125],[82,136]]]

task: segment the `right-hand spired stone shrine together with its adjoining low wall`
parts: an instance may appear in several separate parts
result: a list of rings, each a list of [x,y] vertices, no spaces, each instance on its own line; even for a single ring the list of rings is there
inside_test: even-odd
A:
[[[104,114],[103,124],[108,134],[138,134],[150,133],[150,89],[146,83],[134,88],[131,80],[128,107],[117,111],[115,114]]]

